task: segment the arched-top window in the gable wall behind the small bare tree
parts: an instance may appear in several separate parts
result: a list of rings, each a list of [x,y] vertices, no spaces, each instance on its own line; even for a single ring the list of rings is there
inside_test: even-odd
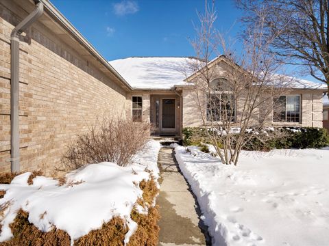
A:
[[[215,79],[210,83],[206,107],[208,121],[234,122],[234,96],[227,79]]]

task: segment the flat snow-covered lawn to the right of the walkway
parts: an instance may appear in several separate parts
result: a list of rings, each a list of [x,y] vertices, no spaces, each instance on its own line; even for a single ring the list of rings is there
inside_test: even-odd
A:
[[[329,150],[243,152],[237,167],[176,146],[213,245],[329,245]]]

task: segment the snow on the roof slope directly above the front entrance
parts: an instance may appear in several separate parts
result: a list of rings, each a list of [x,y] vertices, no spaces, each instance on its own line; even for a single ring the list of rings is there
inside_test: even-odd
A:
[[[110,65],[132,87],[138,89],[170,89],[184,85],[184,79],[193,71],[189,68],[192,57],[129,57],[109,61]]]

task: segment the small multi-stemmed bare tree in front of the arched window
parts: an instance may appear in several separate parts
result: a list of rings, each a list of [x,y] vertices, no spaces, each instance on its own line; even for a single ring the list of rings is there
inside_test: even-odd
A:
[[[196,38],[191,42],[196,59],[190,59],[189,67],[195,73],[186,80],[193,87],[204,132],[222,163],[236,165],[251,138],[266,141],[273,136],[264,132],[264,126],[270,126],[273,105],[277,105],[289,81],[278,75],[282,63],[276,55],[267,52],[276,36],[263,35],[265,18],[259,16],[248,30],[241,54],[232,51],[232,42],[217,31],[216,19],[213,3],[206,2],[204,14],[199,14]]]

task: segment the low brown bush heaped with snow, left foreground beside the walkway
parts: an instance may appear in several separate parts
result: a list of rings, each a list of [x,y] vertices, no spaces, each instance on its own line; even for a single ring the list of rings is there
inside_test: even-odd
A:
[[[86,165],[64,182],[3,176],[0,245],[157,245],[159,150],[149,140],[128,167]]]

